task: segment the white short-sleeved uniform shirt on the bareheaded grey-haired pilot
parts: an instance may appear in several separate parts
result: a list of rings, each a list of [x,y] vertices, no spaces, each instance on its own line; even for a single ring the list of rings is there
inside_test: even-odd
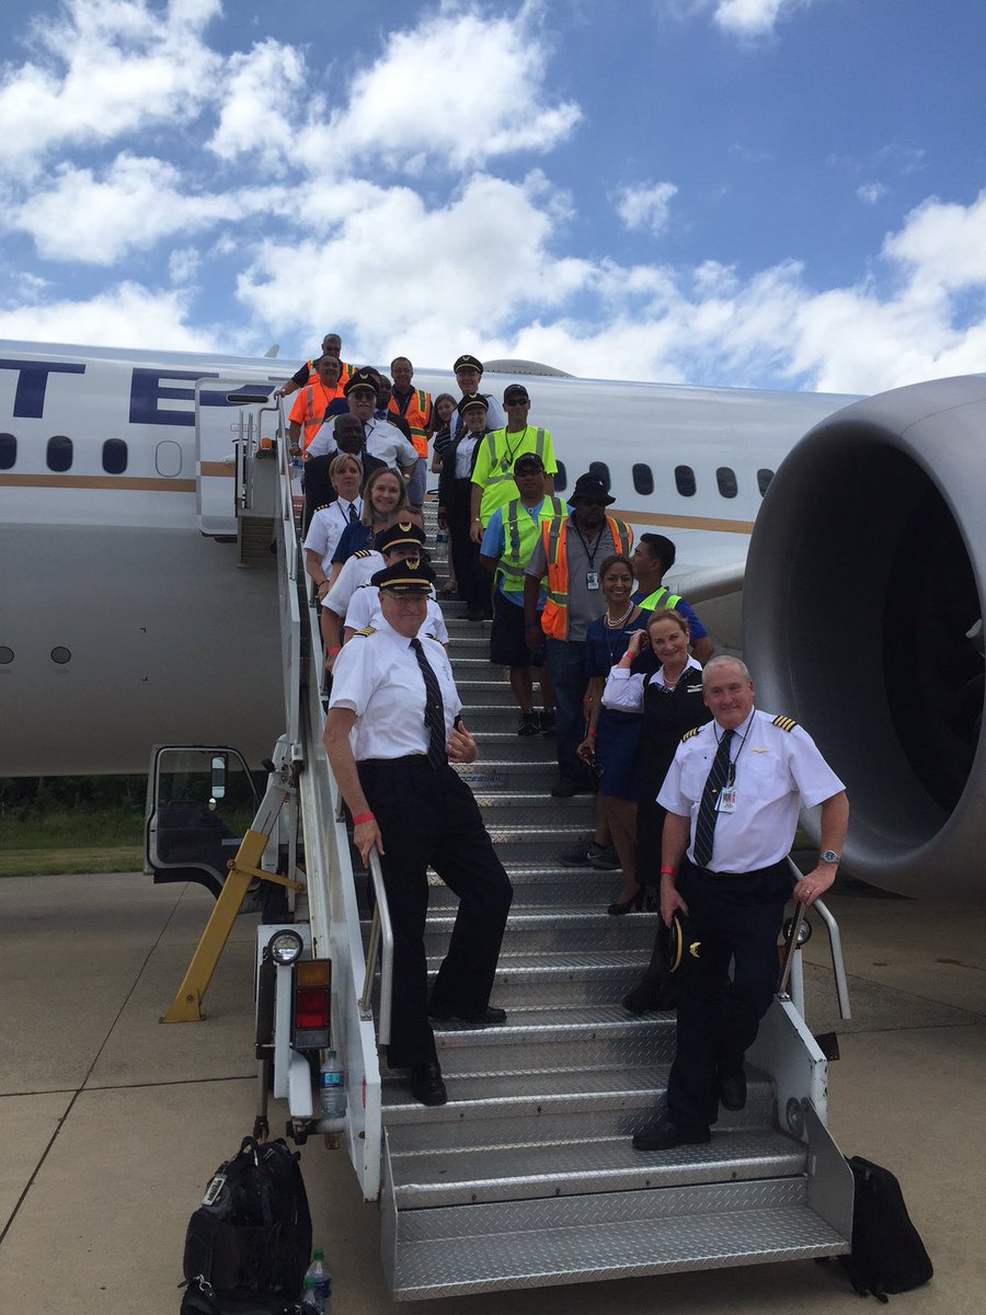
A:
[[[684,739],[657,802],[692,819],[688,856],[694,861],[695,818],[722,727],[707,722]],[[745,736],[745,738],[744,738]],[[756,707],[730,744],[736,807],[715,819],[713,872],[755,872],[784,859],[794,842],[801,805],[815,807],[845,786],[801,726],[785,731]]]

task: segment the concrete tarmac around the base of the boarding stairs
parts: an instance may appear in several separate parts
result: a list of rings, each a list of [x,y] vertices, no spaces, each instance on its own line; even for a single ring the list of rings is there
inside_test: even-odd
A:
[[[601,901],[605,893],[601,890]],[[241,917],[202,1023],[162,1026],[208,918],[201,888],[141,874],[0,881],[0,1310],[176,1315],[185,1224],[254,1118],[252,936]],[[901,1178],[935,1264],[899,1311],[982,1315],[986,1249],[986,909],[833,893],[853,1019],[837,1019],[827,940],[805,951],[807,1018],[835,1028],[830,1127]],[[284,1115],[272,1106],[272,1135]],[[377,1206],[346,1153],[302,1151],[335,1315],[397,1308]],[[417,1303],[422,1315],[856,1311],[809,1261]],[[405,1310],[411,1308],[404,1306]]]

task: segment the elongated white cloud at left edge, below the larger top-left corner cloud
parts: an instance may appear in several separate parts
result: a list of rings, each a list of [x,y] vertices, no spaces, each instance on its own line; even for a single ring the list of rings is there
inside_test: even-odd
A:
[[[5,222],[29,233],[49,259],[109,266],[172,234],[275,208],[280,197],[264,188],[188,196],[181,181],[174,164],[129,154],[118,155],[101,178],[66,166],[51,187],[11,209]]]

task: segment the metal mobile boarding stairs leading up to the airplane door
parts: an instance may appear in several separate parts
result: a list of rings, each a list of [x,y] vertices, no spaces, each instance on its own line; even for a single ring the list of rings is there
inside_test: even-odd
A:
[[[277,968],[276,1001],[262,990],[258,1006],[259,1116],[266,1118],[272,1069],[273,1095],[288,1101],[289,1134],[342,1139],[364,1198],[380,1203],[381,1257],[396,1298],[848,1252],[852,1174],[827,1131],[827,1059],[803,1019],[799,919],[778,993],[748,1056],[745,1109],[723,1112],[707,1145],[652,1155],[632,1149],[632,1134],[664,1103],[674,1047],[673,1014],[636,1018],[619,1003],[649,959],[657,915],[607,917],[606,876],[557,863],[559,852],[590,832],[592,801],[551,797],[553,743],[517,736],[505,673],[488,661],[488,627],[468,623],[459,604],[446,608],[450,656],[465,723],[481,750],[477,763],[459,771],[515,892],[493,990],[507,1022],[436,1031],[446,1106],[418,1105],[381,1072],[392,973],[387,898],[376,855],[369,873],[359,868],[321,746],[322,659],[301,564],[293,472],[283,442],[258,455],[266,427],[275,438],[283,434],[280,408],[241,409],[235,477],[225,490],[204,492],[209,523],[202,531],[239,535],[243,569],[264,569],[251,565],[250,544],[266,534],[276,540],[285,735],[247,834],[250,860],[241,857],[242,871],[233,871],[239,885],[235,892],[230,885],[225,901],[231,913],[226,909],[213,926],[221,896],[172,1010],[201,1016],[208,973],[251,871],[280,873],[289,886],[288,911],[258,928],[258,964],[283,927],[301,935],[302,957],[331,960],[333,1045],[344,1064],[348,1103],[344,1119],[318,1120],[312,1065],[291,1031],[293,969]],[[209,441],[202,421],[200,458],[214,462]],[[218,442],[229,444],[229,413]],[[435,564],[440,569],[440,560]],[[220,768],[233,752],[196,751]],[[149,871],[158,871],[153,798],[149,818]],[[434,972],[456,902],[433,880],[426,940]],[[840,1011],[848,1018],[837,927],[820,902],[815,909],[830,934]]]

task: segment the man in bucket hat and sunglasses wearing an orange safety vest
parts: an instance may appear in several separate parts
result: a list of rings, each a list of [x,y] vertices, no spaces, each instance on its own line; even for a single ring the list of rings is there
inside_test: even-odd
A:
[[[572,514],[542,525],[525,572],[527,647],[535,655],[544,654],[557,702],[559,780],[551,790],[556,798],[592,788],[586,765],[576,753],[585,738],[585,633],[605,609],[599,563],[613,552],[628,556],[634,542],[624,521],[606,515],[614,501],[598,475],[580,475],[568,498]],[[546,575],[547,600],[539,619],[538,594]]]

